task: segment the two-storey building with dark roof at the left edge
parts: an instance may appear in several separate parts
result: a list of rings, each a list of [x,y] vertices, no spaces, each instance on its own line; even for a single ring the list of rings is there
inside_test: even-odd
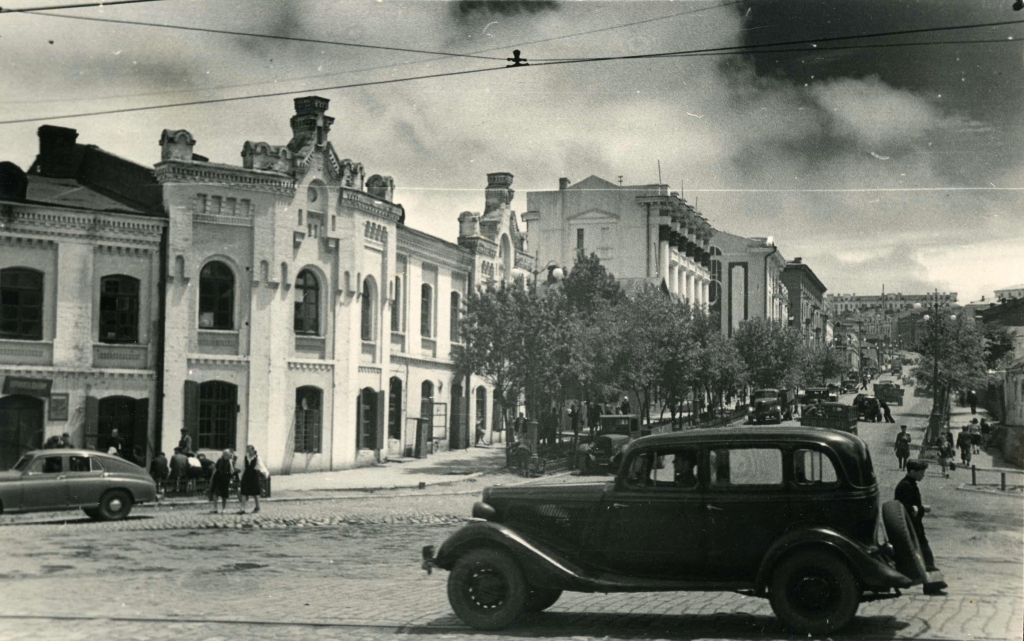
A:
[[[0,469],[53,435],[145,464],[159,437],[153,170],[43,126],[28,174],[0,164]]]

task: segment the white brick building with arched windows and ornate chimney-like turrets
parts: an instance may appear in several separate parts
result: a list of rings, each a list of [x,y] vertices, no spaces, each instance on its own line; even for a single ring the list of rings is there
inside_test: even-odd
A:
[[[292,139],[245,142],[242,166],[194,154],[187,131],[161,138],[164,451],[183,429],[290,473],[467,446],[481,421],[490,438],[493,391],[457,379],[452,351],[467,294],[532,268],[511,174],[488,176],[479,233],[447,243],[404,225],[390,177],[336,152],[327,99],[295,106]]]

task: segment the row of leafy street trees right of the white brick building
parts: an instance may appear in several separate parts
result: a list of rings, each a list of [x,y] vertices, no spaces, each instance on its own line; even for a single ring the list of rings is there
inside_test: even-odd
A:
[[[821,385],[844,372],[841,352],[777,323],[749,320],[732,339],[720,327],[655,286],[627,294],[596,255],[581,254],[557,287],[502,284],[470,294],[455,360],[460,374],[494,385],[506,424],[520,399],[536,419],[570,399],[605,402],[623,392],[644,420],[658,408],[678,424],[684,408],[714,416],[748,384]]]

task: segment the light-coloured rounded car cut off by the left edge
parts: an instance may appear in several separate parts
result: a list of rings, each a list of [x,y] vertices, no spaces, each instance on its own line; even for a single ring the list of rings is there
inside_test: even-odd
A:
[[[81,509],[90,518],[116,521],[133,505],[157,500],[145,470],[124,459],[88,450],[35,450],[0,472],[0,512]]]

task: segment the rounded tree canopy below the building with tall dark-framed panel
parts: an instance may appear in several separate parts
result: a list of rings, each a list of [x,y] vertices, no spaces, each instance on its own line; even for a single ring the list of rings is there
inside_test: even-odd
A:
[[[799,332],[768,318],[752,318],[739,326],[733,340],[755,387],[786,389],[799,381]]]

